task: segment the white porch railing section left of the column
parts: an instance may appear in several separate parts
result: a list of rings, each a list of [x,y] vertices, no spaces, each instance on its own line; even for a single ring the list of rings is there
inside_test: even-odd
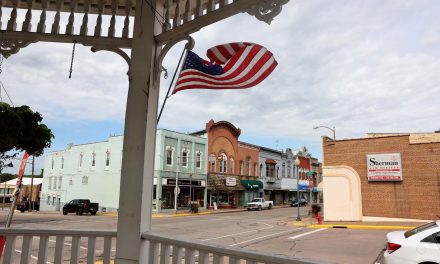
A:
[[[87,263],[95,263],[96,243],[104,242],[103,263],[110,264],[112,258],[112,239],[114,230],[60,230],[60,229],[15,229],[0,228],[0,236],[6,238],[2,263],[78,263],[83,255]],[[81,240],[87,240],[87,246],[81,246]],[[21,240],[21,241],[20,241]],[[21,246],[20,243],[21,242]],[[49,250],[49,244],[55,243]],[[18,245],[17,245],[18,244]],[[53,244],[52,244],[53,245]],[[86,254],[80,254],[80,249]],[[32,254],[35,251],[35,254]],[[70,256],[68,252],[70,251]]]

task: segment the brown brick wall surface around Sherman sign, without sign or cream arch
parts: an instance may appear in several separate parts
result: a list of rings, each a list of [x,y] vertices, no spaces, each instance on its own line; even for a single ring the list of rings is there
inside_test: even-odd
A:
[[[324,166],[350,166],[360,176],[364,216],[438,219],[440,143],[410,144],[409,135],[323,138]],[[368,182],[367,154],[400,153],[403,181]]]

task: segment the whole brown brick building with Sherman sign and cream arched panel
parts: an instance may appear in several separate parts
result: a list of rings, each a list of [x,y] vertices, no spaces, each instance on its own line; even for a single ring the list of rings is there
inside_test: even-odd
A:
[[[323,137],[322,145],[327,221],[437,219],[440,215],[440,133],[369,134],[347,140]],[[397,159],[376,161],[392,156]],[[377,168],[385,171],[381,178],[371,176]]]

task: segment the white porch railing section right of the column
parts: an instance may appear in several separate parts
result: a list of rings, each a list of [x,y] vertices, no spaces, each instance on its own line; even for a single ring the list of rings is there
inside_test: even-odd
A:
[[[142,234],[150,242],[148,264],[323,264],[324,262],[285,255],[259,253],[249,249],[174,239],[151,233]]]

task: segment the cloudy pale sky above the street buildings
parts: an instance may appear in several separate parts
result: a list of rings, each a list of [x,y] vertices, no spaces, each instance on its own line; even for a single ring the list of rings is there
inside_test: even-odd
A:
[[[241,129],[240,141],[306,146],[319,159],[321,136],[332,132],[314,126],[335,127],[337,139],[438,130],[439,13],[435,0],[291,0],[271,25],[247,13],[222,20],[191,35],[195,53],[205,57],[218,44],[254,42],[274,54],[277,68],[250,89],[179,92],[158,127],[186,133],[204,129],[210,119],[225,120]],[[184,44],[165,57],[170,75]],[[52,129],[47,152],[124,131],[126,62],[76,45],[69,79],[71,54],[71,44],[40,42],[1,65],[0,80],[14,104],[40,112]],[[170,79],[161,79],[160,104]],[[8,102],[3,91],[1,98]]]

